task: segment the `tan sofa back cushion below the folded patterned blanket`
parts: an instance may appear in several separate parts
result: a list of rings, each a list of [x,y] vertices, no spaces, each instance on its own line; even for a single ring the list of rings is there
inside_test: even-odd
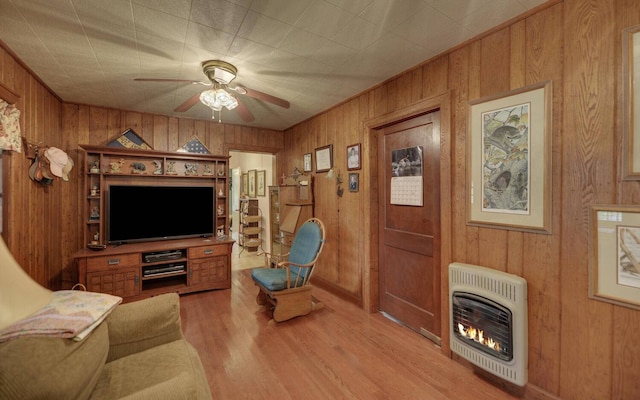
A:
[[[87,399],[108,351],[106,324],[82,341],[27,336],[0,344],[0,399]]]

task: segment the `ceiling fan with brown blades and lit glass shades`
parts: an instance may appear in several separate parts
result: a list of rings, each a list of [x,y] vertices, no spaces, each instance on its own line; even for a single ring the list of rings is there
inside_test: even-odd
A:
[[[229,86],[231,81],[236,78],[238,69],[225,61],[220,60],[208,60],[202,62],[202,72],[209,78],[210,82],[193,81],[188,79],[153,79],[153,78],[135,78],[135,81],[141,82],[185,82],[193,85],[210,86],[209,89],[204,90],[201,93],[196,93],[192,97],[185,100],[182,104],[176,107],[173,111],[185,112],[191,107],[196,105],[198,101],[207,107],[211,108],[213,112],[213,118],[215,119],[215,113],[218,112],[218,118],[223,108],[227,110],[235,109],[240,117],[246,121],[251,122],[255,120],[249,109],[242,103],[240,99],[233,96],[229,91],[236,92],[237,94],[252,97],[254,99],[266,101],[283,108],[289,108],[288,101],[279,97],[272,96],[267,93],[263,93],[254,89],[249,89],[245,86]]]

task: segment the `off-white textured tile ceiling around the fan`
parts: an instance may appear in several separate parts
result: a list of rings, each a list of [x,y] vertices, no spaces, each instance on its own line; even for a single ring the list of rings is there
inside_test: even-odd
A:
[[[66,102],[210,119],[205,89],[134,78],[207,80],[238,68],[255,121],[285,129],[546,0],[0,0],[0,40]]]

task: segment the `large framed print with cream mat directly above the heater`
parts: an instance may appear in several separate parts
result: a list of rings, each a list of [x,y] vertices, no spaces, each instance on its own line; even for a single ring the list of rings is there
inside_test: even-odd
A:
[[[551,233],[551,81],[469,103],[467,223]]]

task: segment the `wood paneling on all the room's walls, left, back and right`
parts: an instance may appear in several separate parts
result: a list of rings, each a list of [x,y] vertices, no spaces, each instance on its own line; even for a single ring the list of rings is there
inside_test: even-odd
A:
[[[126,128],[160,150],[198,135],[214,153],[280,151],[277,176],[302,167],[302,155],[332,144],[346,177],[346,147],[363,145],[360,191],[336,195],[336,180],[317,174],[315,213],[329,240],[316,276],[346,298],[375,308],[375,258],[366,226],[375,221],[377,152],[365,121],[442,93],[451,98],[451,254],[527,279],[527,398],[640,398],[640,313],[588,298],[588,210],[594,203],[637,204],[640,183],[622,182],[621,31],[640,23],[636,0],[552,1],[394,79],[288,129],[239,126],[66,104],[0,48],[0,83],[21,96],[21,123],[33,143],[60,147],[78,160],[79,143],[102,144]],[[553,82],[552,234],[466,225],[468,102],[528,84]],[[266,144],[265,144],[266,143]],[[285,147],[286,143],[286,147]],[[38,282],[74,281],[70,256],[82,242],[81,168],[49,187],[28,178],[24,154],[5,153],[3,236]],[[446,266],[443,266],[446,271]],[[446,303],[447,291],[442,301]],[[448,332],[443,320],[443,341]],[[447,352],[448,346],[443,346]]]

